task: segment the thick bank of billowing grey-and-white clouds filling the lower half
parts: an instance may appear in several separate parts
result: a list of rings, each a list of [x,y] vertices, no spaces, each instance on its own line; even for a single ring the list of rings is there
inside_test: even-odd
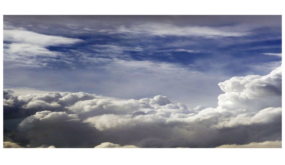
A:
[[[281,66],[266,76],[233,77],[216,108],[193,109],[166,96],[117,99],[84,92],[13,96],[4,119],[7,147],[281,147]]]

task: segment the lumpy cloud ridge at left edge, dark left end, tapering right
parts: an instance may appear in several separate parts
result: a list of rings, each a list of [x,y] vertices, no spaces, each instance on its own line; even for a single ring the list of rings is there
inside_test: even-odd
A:
[[[4,89],[3,94],[5,95],[3,99],[4,104],[4,119],[7,118],[21,118],[28,117],[35,114],[38,111],[69,111],[66,106],[74,105],[78,101],[94,99],[94,98],[107,98],[92,95],[89,93],[78,92],[52,92],[45,94],[28,94],[20,96],[12,96],[10,89]]]

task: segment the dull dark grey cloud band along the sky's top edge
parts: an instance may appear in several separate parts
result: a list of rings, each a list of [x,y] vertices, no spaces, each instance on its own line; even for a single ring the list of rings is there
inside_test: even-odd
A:
[[[281,15],[5,15],[4,21],[24,23],[32,22],[38,24],[58,24],[58,25],[131,25],[144,22],[168,23],[179,26],[228,26],[236,24],[258,24],[281,27]],[[88,30],[88,29],[86,29]]]

